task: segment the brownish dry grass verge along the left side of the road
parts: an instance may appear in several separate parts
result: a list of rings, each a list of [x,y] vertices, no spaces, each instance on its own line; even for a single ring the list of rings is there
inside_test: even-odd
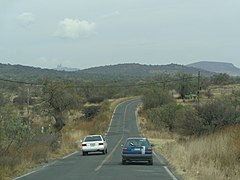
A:
[[[62,130],[62,144],[57,151],[52,151],[46,144],[28,144],[19,151],[12,148],[6,156],[0,157],[0,180],[12,179],[21,175],[41,163],[50,159],[60,158],[80,149],[80,141],[87,134],[104,134],[107,131],[115,107],[130,98],[113,99],[110,101],[110,110],[101,113],[93,120],[82,120],[81,112],[71,111],[68,115],[67,125]],[[38,122],[45,122],[39,119]]]

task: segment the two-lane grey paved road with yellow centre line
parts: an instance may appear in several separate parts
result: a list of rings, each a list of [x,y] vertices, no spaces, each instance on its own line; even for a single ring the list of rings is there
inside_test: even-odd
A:
[[[154,157],[153,166],[141,163],[121,164],[121,144],[128,136],[139,135],[135,113],[139,103],[139,100],[130,100],[119,104],[115,109],[106,135],[106,139],[108,140],[108,154],[82,156],[79,151],[16,179],[176,180],[168,168],[156,156]]]

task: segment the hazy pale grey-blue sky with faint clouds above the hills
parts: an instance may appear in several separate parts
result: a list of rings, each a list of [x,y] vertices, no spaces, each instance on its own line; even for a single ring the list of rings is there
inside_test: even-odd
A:
[[[240,67],[240,0],[0,0],[0,62]]]

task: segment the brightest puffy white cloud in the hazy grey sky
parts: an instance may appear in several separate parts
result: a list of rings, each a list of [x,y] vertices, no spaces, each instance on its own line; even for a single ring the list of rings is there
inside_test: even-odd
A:
[[[86,20],[65,18],[59,22],[59,29],[55,36],[64,38],[88,37],[95,33],[96,24]]]

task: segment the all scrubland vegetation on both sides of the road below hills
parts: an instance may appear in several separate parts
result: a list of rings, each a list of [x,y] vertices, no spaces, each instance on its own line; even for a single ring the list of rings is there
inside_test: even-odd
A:
[[[239,176],[239,79],[225,74],[200,83],[189,74],[100,79],[1,81],[1,179],[79,150],[86,134],[104,134],[114,107],[130,96],[142,96],[142,132],[160,144],[156,150],[184,178]],[[232,89],[223,93],[230,83]]]

